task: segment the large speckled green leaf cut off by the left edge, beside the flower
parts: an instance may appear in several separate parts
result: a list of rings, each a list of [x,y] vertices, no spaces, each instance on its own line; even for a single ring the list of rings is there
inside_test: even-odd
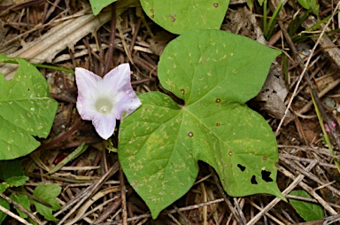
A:
[[[0,54],[0,62],[13,61],[19,63],[19,69],[12,81],[0,74],[4,93],[0,95],[0,159],[16,159],[34,151],[40,145],[34,136],[49,135],[58,107],[35,66]]]

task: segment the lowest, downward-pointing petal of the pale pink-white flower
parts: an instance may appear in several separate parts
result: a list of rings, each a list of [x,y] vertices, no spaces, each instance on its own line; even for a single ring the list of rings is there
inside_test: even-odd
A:
[[[92,124],[96,128],[98,135],[107,140],[113,135],[114,128],[116,128],[116,118],[114,118],[113,114],[97,113],[92,120]]]

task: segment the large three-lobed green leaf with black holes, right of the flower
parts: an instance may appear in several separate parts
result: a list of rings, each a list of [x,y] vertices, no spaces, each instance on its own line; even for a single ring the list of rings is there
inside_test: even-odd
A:
[[[195,182],[197,160],[215,168],[231,196],[269,193],[276,185],[277,144],[266,120],[245,102],[259,92],[279,50],[224,31],[194,31],[166,46],[158,64],[163,87],[140,95],[122,120],[119,158],[152,217]]]

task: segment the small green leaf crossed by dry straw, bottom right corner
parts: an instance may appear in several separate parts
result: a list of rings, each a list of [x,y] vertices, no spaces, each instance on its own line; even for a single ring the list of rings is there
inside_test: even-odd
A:
[[[290,195],[312,198],[312,196],[305,190],[292,190],[290,191]],[[325,217],[323,208],[319,204],[305,202],[298,199],[290,199],[290,204],[305,221],[318,221]]]

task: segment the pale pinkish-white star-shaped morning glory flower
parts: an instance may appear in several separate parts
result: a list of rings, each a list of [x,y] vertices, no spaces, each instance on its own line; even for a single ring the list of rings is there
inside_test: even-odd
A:
[[[142,105],[130,82],[130,66],[121,64],[103,78],[84,68],[75,68],[78,86],[77,110],[82,120],[92,120],[99,136],[112,136],[116,120]]]

